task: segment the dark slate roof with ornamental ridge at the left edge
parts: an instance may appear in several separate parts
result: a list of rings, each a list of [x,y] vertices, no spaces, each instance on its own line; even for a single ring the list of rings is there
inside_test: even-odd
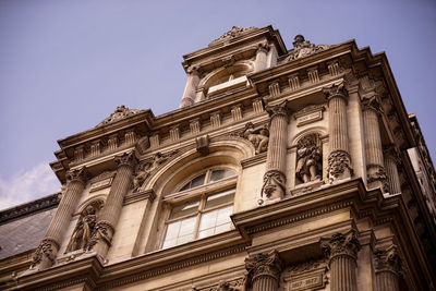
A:
[[[58,195],[0,211],[0,259],[38,246],[58,207]]]

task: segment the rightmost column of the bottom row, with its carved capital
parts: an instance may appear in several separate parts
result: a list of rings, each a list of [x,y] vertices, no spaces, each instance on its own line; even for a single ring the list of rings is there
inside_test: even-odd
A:
[[[399,290],[399,271],[401,260],[398,256],[397,246],[391,245],[386,250],[375,252],[375,282],[377,291]]]

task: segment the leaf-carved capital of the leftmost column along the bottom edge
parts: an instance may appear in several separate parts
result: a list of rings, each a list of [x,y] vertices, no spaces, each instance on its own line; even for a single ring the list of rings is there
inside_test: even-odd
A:
[[[279,257],[279,253],[277,251],[271,251],[245,258],[245,268],[249,271],[249,277],[251,277],[253,281],[262,276],[274,277],[278,280],[282,269],[282,262]]]

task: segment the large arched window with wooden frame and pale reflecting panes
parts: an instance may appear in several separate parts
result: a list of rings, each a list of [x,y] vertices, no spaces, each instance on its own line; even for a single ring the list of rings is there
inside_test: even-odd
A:
[[[229,169],[207,169],[170,196],[162,248],[231,229],[237,175]]]

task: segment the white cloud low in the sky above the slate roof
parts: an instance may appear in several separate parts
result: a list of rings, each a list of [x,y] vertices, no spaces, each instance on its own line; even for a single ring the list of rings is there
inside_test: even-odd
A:
[[[0,209],[59,192],[60,189],[61,185],[48,162],[36,165],[9,180],[0,177]]]

